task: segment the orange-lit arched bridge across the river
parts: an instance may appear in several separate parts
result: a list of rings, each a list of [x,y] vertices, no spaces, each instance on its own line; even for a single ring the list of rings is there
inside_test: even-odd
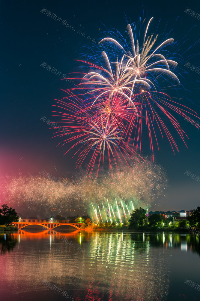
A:
[[[68,225],[76,229],[80,229],[82,223],[70,223],[69,220],[64,219],[20,219],[19,222],[13,222],[13,225],[18,229],[22,229],[30,225],[38,225],[43,226],[48,230],[53,230],[56,227],[63,225]]]

